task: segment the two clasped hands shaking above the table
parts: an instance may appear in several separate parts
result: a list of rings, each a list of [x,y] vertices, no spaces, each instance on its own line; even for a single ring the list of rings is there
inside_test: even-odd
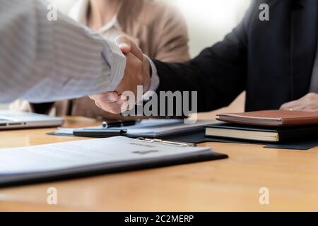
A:
[[[125,35],[117,37],[116,44],[126,55],[126,69],[124,78],[114,92],[91,95],[90,99],[95,101],[95,105],[113,114],[125,112],[134,107],[135,102],[139,102],[141,97],[136,100],[129,100],[124,95],[126,92],[137,94],[137,87],[142,85],[143,93],[146,93],[151,86],[151,66],[141,49],[129,40]]]

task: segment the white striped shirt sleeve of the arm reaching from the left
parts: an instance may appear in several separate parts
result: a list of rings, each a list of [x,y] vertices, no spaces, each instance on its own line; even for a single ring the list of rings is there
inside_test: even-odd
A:
[[[115,90],[126,57],[46,1],[0,0],[0,102],[52,102]]]

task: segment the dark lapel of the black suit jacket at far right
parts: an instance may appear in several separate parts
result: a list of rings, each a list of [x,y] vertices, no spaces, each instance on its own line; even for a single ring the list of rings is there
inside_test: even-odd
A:
[[[317,0],[291,2],[290,18],[290,85],[291,99],[308,93],[317,53]]]

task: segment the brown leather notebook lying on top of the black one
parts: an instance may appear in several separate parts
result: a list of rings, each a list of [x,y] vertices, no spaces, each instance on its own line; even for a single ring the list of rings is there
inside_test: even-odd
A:
[[[269,110],[218,114],[216,119],[219,121],[252,126],[305,126],[318,124],[318,113]]]

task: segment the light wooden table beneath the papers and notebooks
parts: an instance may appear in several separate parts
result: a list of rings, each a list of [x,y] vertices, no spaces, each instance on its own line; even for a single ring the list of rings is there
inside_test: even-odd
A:
[[[100,124],[69,118],[66,126]],[[1,131],[0,148],[78,138],[47,136],[54,129]],[[0,189],[0,210],[60,211],[277,211],[318,210],[318,148],[265,149],[262,145],[204,143],[228,160],[108,174]],[[58,204],[47,204],[47,189],[57,189]],[[269,189],[269,205],[259,189]]]

